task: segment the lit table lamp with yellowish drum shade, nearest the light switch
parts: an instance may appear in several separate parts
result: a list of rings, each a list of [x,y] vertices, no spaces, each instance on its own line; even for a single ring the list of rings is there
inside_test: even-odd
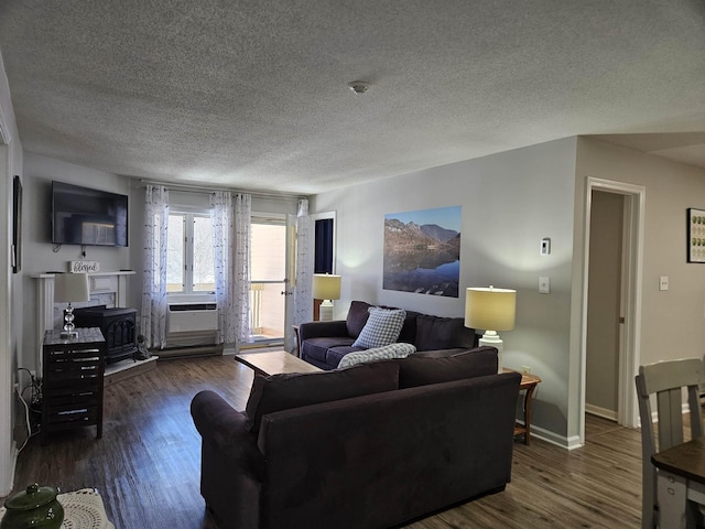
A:
[[[497,348],[498,370],[502,371],[503,342],[497,331],[514,328],[517,291],[509,289],[470,288],[465,293],[465,326],[484,328],[479,345]]]

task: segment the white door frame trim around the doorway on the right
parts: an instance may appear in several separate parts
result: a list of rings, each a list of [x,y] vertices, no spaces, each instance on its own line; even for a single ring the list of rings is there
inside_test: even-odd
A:
[[[622,262],[622,285],[625,317],[620,339],[619,354],[619,424],[636,428],[638,425],[637,393],[634,376],[640,361],[641,342],[641,283],[643,268],[643,219],[646,206],[646,187],[609,180],[587,177],[585,186],[585,239],[583,261],[583,306],[581,317],[581,398],[578,401],[578,420],[581,444],[585,444],[585,376],[587,361],[587,298],[589,283],[589,244],[593,191],[604,191],[625,195],[625,242],[626,256]]]

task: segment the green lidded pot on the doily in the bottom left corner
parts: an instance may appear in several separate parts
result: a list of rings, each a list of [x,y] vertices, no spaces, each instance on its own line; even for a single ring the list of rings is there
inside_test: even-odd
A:
[[[64,507],[56,499],[56,487],[40,487],[36,483],[4,503],[7,509],[0,529],[59,529]]]

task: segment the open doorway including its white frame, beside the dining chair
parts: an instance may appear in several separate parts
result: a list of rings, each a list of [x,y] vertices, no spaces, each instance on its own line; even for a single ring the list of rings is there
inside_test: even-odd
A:
[[[597,192],[597,193],[596,193]],[[614,196],[619,195],[619,196]],[[597,197],[598,204],[594,204]],[[626,427],[638,424],[638,409],[633,377],[639,365],[641,334],[641,276],[643,255],[643,216],[646,190],[643,186],[621,182],[588,177],[585,195],[585,258],[583,277],[583,311],[581,324],[581,385],[578,396],[579,444],[585,443],[585,413],[596,412]],[[598,217],[600,207],[610,209],[612,222],[610,237]],[[621,217],[621,224],[618,218]],[[609,222],[609,220],[606,220]],[[618,231],[615,234],[614,231]],[[610,238],[610,250],[605,263],[599,264],[603,240]],[[592,269],[599,264],[597,270]],[[608,276],[601,268],[609,269]],[[605,279],[609,277],[610,279]],[[592,291],[590,289],[595,288]],[[601,305],[604,303],[604,306]],[[609,306],[609,309],[605,309]],[[600,311],[606,311],[600,314]],[[592,319],[590,319],[592,315]],[[603,317],[600,322],[600,317]],[[598,336],[608,327],[605,336]],[[609,352],[601,361],[608,366],[600,374],[599,356],[592,357],[604,339]],[[605,359],[608,358],[608,359]],[[605,375],[609,371],[609,375]],[[605,387],[596,377],[604,377]],[[605,399],[596,400],[595,395],[605,391]],[[575,395],[575,393],[574,393]],[[590,402],[593,400],[593,402]]]

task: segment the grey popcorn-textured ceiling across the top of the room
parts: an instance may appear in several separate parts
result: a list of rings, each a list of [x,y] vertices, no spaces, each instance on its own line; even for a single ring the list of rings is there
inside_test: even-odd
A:
[[[316,193],[576,134],[705,166],[703,0],[2,0],[0,53],[25,150],[128,176]]]

